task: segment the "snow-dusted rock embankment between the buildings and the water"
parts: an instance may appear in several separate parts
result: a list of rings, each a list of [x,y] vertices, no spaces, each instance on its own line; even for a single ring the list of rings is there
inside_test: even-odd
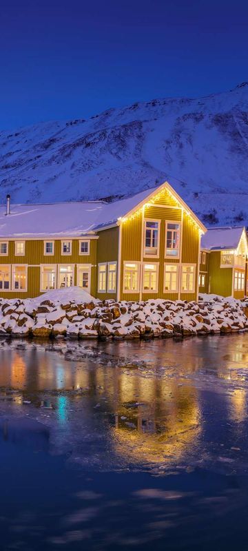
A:
[[[245,305],[216,295],[200,295],[198,302],[101,302],[72,287],[33,299],[0,298],[0,336],[121,340],[236,333],[248,331]]]

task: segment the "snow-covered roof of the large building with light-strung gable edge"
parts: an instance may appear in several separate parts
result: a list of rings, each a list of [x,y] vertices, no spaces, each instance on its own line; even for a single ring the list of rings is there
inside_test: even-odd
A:
[[[164,184],[145,189],[132,197],[107,203],[104,201],[58,202],[43,205],[10,205],[10,214],[6,216],[6,205],[0,205],[0,239],[3,238],[43,238],[60,236],[83,236],[105,229],[110,225],[119,225],[122,220],[132,216],[145,203],[163,189],[167,189],[199,229],[206,231],[194,212],[189,209],[176,191]]]

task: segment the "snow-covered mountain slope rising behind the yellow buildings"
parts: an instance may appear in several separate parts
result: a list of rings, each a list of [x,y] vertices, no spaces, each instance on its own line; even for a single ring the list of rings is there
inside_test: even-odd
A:
[[[248,223],[248,83],[0,132],[0,202],[117,198],[165,179],[207,225]]]

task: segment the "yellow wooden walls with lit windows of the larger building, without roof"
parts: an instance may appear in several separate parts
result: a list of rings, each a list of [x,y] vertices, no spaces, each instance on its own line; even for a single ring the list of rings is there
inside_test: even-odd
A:
[[[147,200],[123,218],[87,236],[23,238],[19,245],[0,236],[0,294],[32,298],[79,285],[101,300],[197,300],[203,231],[166,183],[153,195],[147,192]],[[87,253],[82,241],[88,242]]]

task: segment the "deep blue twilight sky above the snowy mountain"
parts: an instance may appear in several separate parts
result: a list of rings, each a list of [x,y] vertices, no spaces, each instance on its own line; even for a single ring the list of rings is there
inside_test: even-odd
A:
[[[2,0],[0,129],[248,80],[247,0]]]

